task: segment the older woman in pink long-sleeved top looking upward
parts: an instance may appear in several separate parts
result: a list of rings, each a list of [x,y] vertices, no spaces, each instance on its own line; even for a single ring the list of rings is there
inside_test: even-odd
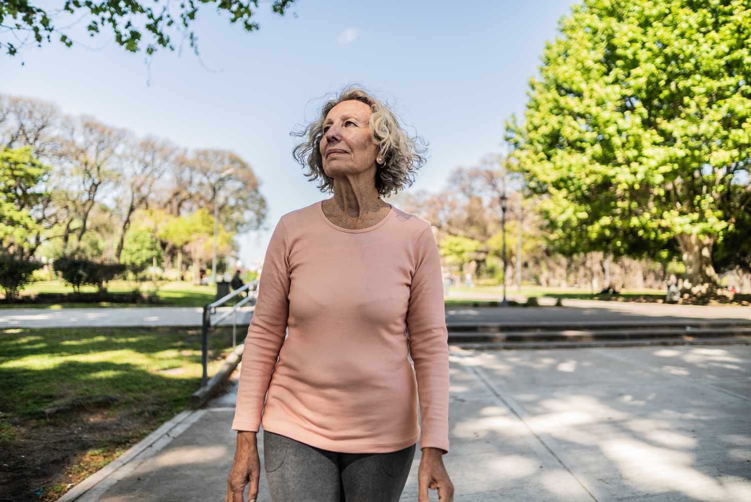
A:
[[[425,159],[394,113],[354,87],[295,134],[306,141],[294,158],[333,197],[286,213],[273,231],[245,340],[225,500],[242,501],[248,484],[249,500],[257,497],[263,425],[277,502],[399,500],[418,439],[418,500],[432,488],[453,502],[442,458],[449,378],[438,246],[424,219],[381,198],[411,184]]]

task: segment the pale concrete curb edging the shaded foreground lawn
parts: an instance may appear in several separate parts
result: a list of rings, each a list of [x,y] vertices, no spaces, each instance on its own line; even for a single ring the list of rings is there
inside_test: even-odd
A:
[[[71,488],[57,502],[93,502],[98,500],[112,485],[134,470],[141,462],[167,446],[175,437],[182,434],[194,422],[204,416],[207,410],[185,410],[164,422],[157,430],[144,437],[91,476]]]

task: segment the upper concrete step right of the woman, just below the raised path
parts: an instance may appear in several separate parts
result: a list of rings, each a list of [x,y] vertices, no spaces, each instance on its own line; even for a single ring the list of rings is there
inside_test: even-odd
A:
[[[631,329],[568,329],[538,331],[498,331],[498,332],[456,332],[448,330],[449,343],[486,342],[540,342],[540,341],[587,341],[587,340],[647,340],[652,338],[703,338],[751,336],[751,327],[733,325],[714,328],[693,328],[691,326],[672,328],[631,328]]]

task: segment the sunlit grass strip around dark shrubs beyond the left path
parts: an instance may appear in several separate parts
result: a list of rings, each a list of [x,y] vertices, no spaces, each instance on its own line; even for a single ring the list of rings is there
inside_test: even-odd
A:
[[[113,280],[109,283],[107,291],[115,295],[131,291],[133,283],[124,280]],[[149,283],[145,283],[141,290],[146,292],[149,289]],[[83,286],[82,293],[93,293],[96,291],[94,286]],[[40,281],[31,283],[21,292],[22,297],[32,297],[39,293],[73,293],[71,286],[59,280]],[[100,301],[96,303],[83,302],[58,302],[58,303],[20,303],[20,304],[0,304],[0,308],[71,308],[71,307],[203,307],[205,304],[213,302],[216,298],[216,286],[195,285],[189,281],[175,281],[166,283],[161,286],[158,292],[158,304],[128,304],[119,302]]]

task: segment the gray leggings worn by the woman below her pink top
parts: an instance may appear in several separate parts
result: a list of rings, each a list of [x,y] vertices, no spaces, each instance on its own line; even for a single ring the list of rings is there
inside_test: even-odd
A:
[[[273,502],[398,502],[417,443],[396,452],[341,453],[264,431]]]

